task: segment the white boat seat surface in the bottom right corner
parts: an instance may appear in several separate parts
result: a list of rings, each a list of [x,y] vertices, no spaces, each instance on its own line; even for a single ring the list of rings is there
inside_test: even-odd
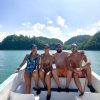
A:
[[[75,97],[75,100],[100,100],[100,93],[85,92],[82,97]]]

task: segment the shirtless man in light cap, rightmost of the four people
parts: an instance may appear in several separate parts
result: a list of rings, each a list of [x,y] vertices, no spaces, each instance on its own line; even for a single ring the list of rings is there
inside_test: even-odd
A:
[[[69,57],[69,63],[70,63],[70,68],[71,71],[73,72],[74,75],[74,80],[76,83],[76,86],[78,87],[80,91],[80,95],[82,96],[84,94],[84,90],[82,89],[79,77],[84,74],[87,77],[88,80],[88,88],[90,89],[91,92],[95,92],[95,89],[92,86],[92,77],[91,77],[91,67],[90,67],[90,61],[87,59],[84,51],[79,52],[78,51],[78,46],[76,44],[72,44],[72,53],[70,54]],[[82,63],[85,62],[84,65]]]

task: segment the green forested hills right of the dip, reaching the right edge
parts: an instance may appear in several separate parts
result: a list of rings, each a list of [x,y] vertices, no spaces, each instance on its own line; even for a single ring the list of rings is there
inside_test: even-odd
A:
[[[79,35],[72,37],[64,43],[64,46],[70,49],[72,43],[78,44],[79,49],[100,50],[100,32],[97,32],[94,36]]]

